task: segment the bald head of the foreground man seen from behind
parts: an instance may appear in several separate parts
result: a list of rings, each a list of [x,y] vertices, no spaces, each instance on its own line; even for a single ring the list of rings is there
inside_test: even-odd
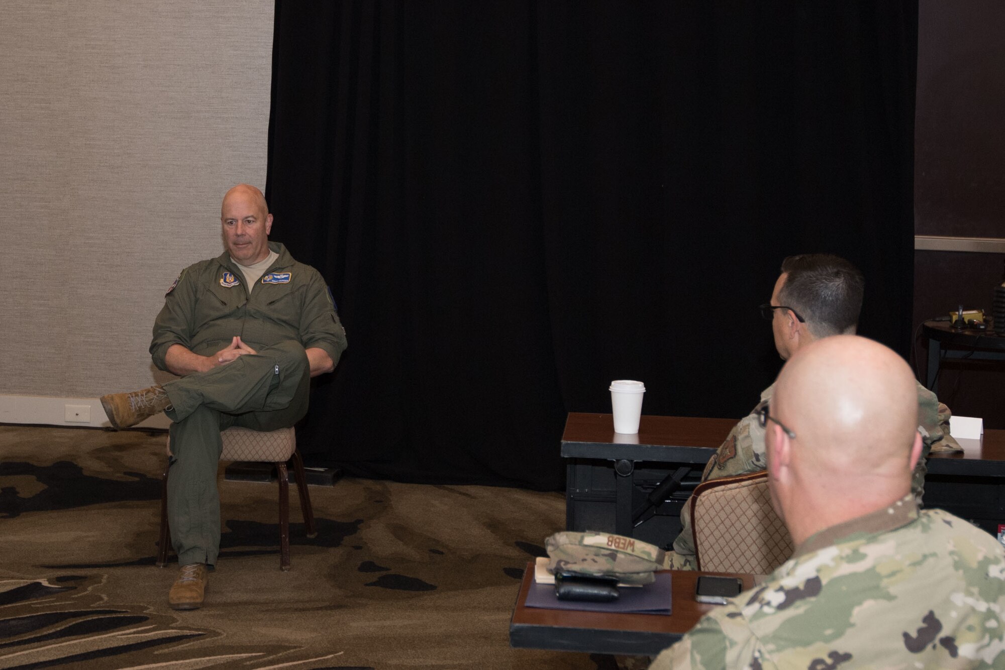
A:
[[[772,424],[766,439],[776,506],[797,542],[790,522],[827,527],[911,490],[918,394],[908,364],[886,347],[834,336],[801,349],[778,377],[770,413],[796,435]]]

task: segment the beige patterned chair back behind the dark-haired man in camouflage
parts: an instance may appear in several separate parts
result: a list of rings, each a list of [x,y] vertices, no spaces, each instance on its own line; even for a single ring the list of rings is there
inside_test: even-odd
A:
[[[698,570],[769,575],[795,548],[771,506],[765,471],[698,484],[690,513]]]

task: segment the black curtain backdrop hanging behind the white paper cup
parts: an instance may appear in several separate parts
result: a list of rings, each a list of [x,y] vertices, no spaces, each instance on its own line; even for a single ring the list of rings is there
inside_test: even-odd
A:
[[[561,487],[567,412],[740,417],[783,257],[907,353],[917,3],[276,2],[273,239],[349,336],[309,462]]]

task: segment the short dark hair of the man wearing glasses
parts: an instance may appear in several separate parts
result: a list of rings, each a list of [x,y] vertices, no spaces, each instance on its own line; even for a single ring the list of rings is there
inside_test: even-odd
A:
[[[854,331],[865,278],[857,267],[829,253],[804,253],[782,261],[787,274],[779,301],[806,319],[815,338]]]

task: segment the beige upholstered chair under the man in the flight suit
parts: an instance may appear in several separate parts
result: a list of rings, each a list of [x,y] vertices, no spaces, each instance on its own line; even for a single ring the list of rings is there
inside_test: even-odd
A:
[[[254,461],[274,463],[279,480],[279,568],[289,570],[289,487],[286,462],[292,461],[293,478],[300,493],[300,510],[308,537],[318,534],[315,529],[311,496],[304,478],[304,461],[296,451],[296,434],[292,428],[280,428],[268,432],[248,428],[228,428],[220,433],[223,439],[221,461]],[[168,453],[171,453],[171,436],[168,436]],[[168,527],[168,468],[164,469],[161,486],[161,538],[157,553],[157,565],[164,568],[168,563],[168,547],[171,546],[171,529]]]

